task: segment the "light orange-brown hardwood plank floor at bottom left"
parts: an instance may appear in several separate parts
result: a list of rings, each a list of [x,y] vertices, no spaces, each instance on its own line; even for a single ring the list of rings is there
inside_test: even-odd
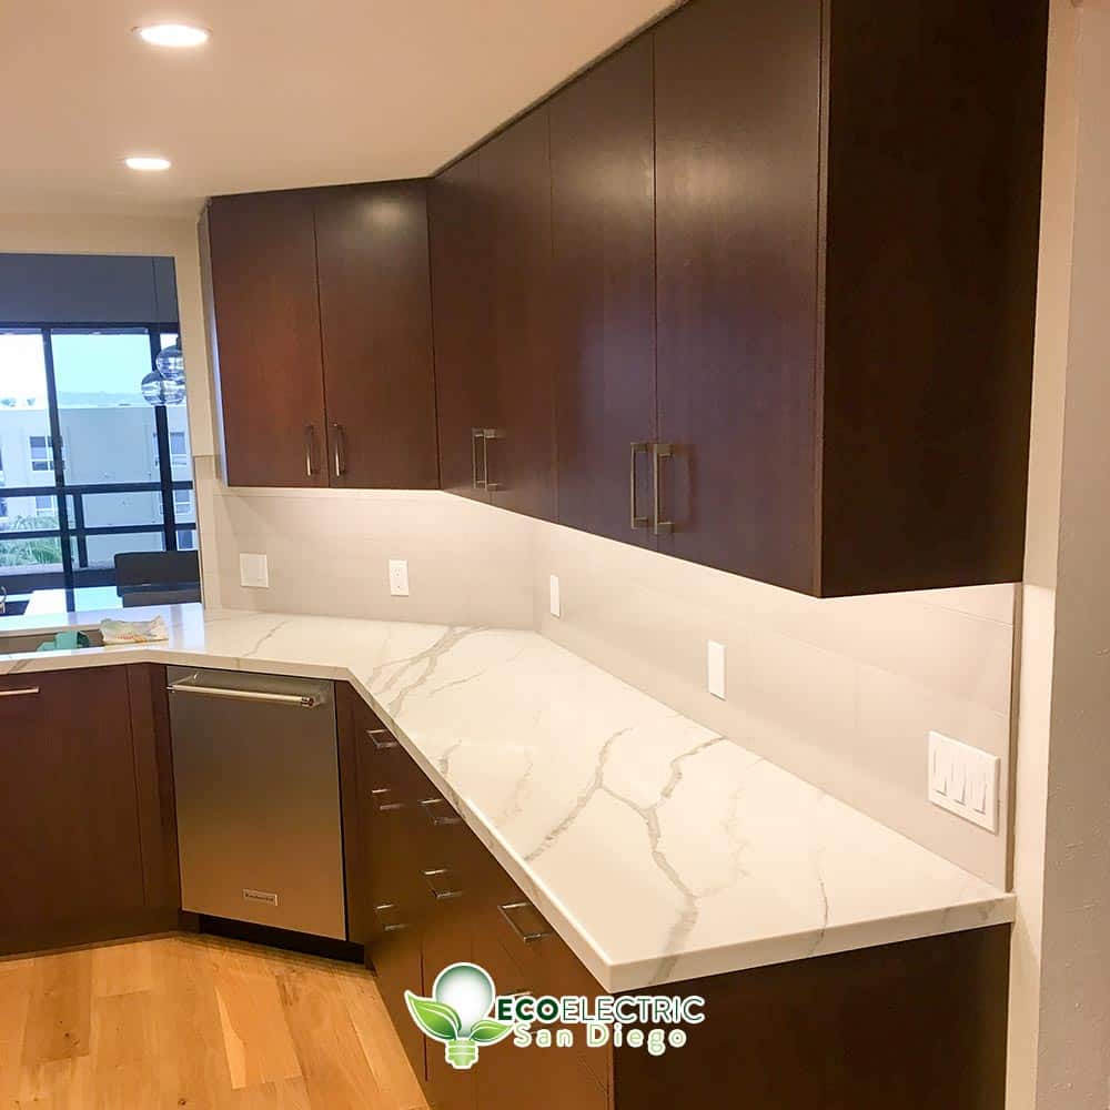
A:
[[[0,1110],[424,1110],[373,977],[210,937],[0,962]]]

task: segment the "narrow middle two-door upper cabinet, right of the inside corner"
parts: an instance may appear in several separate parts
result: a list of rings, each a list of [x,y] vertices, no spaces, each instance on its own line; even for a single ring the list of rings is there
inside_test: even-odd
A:
[[[444,490],[555,519],[551,157],[546,109],[432,190]]]

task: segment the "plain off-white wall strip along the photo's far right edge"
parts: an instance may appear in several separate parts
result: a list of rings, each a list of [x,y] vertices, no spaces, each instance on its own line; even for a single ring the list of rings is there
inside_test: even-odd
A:
[[[1078,31],[1038,1110],[1110,1104],[1110,0],[1087,0]]]

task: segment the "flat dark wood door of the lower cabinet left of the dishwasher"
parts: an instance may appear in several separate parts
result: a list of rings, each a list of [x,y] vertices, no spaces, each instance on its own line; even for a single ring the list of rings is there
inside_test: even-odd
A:
[[[127,668],[8,675],[0,695],[0,934],[102,934],[145,904]]]

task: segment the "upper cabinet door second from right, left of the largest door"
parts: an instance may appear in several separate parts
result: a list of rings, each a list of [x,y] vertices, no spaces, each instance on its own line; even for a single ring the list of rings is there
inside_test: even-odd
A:
[[[551,102],[558,521],[642,545],[654,543],[652,69],[645,36]]]

